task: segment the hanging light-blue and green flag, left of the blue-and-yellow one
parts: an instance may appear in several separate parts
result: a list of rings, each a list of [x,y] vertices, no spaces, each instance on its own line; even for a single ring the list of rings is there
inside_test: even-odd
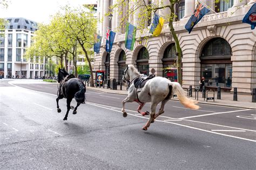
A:
[[[136,26],[127,23],[125,32],[125,47],[126,49],[133,50],[136,37]]]

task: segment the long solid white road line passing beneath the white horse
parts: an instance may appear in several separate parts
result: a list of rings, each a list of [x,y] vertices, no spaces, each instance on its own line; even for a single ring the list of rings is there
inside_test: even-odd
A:
[[[96,107],[102,107],[102,108],[106,108],[106,109],[108,109],[108,110],[112,110],[112,109],[107,108],[107,107],[98,106],[97,104],[93,104],[93,103],[88,103],[88,104],[93,105],[93,106],[96,106]],[[112,111],[121,112],[121,111],[117,111],[117,110],[112,110]],[[122,113],[122,112],[121,112],[121,113]],[[131,114],[131,113],[127,113],[127,114],[132,115],[132,116],[135,116],[135,117],[143,118],[143,119],[149,119],[149,118],[142,117],[142,116],[135,115],[135,114]],[[227,134],[223,134],[223,133],[212,132],[212,131],[208,131],[208,130],[203,130],[203,129],[201,129],[201,128],[196,128],[196,127],[192,127],[192,126],[187,126],[187,125],[181,125],[181,124],[173,123],[173,122],[170,122],[170,121],[163,121],[163,120],[155,120],[155,121],[159,121],[159,122],[163,122],[163,123],[169,123],[169,124],[178,125],[178,126],[183,126],[183,127],[188,127],[188,128],[192,128],[192,129],[194,129],[194,130],[199,130],[199,131],[204,131],[204,132],[219,134],[219,135],[223,135],[223,136],[226,136],[226,137],[231,137],[231,138],[237,138],[237,139],[242,139],[242,140],[248,140],[248,141],[256,142],[256,140],[252,140],[252,139],[240,138],[240,137],[235,137],[235,136],[233,136],[233,135],[227,135]],[[233,128],[235,128],[235,127],[233,127]]]

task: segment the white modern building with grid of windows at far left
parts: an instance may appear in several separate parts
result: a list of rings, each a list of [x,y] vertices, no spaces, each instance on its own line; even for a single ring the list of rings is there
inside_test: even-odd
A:
[[[37,23],[25,18],[5,18],[6,29],[0,35],[0,74],[4,78],[44,76],[44,60],[26,60],[24,53],[32,43]]]

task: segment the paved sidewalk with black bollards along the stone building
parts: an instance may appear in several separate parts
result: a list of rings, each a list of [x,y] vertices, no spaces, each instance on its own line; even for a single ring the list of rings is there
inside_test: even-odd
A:
[[[118,90],[111,90],[111,89],[106,89],[103,87],[90,87],[87,86],[87,89],[91,90],[96,90],[96,91],[101,91],[105,93],[113,93],[113,94],[124,94],[127,95],[126,91],[126,86],[122,86],[122,90],[120,90],[120,86],[117,86]],[[193,97],[190,97],[191,99],[195,99],[195,92],[193,91]],[[209,105],[220,105],[220,106],[232,106],[232,107],[240,107],[240,108],[252,108],[256,109],[256,103],[252,103],[252,95],[249,94],[238,94],[237,95],[237,100],[238,101],[233,101],[233,93],[231,92],[221,92],[221,99],[217,99],[217,92],[215,92],[215,99],[213,100],[208,100],[206,102],[206,98],[202,98],[202,93],[199,92],[198,94],[198,103],[203,103],[203,104],[209,104]],[[213,97],[212,93],[208,93],[208,97]],[[177,97],[174,97],[172,100],[178,100]]]

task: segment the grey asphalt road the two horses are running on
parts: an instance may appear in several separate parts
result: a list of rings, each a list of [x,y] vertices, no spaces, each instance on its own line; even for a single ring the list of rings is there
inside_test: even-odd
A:
[[[143,131],[138,104],[123,118],[124,95],[87,90],[86,104],[63,121],[57,84],[14,85],[0,81],[1,169],[255,169],[255,110],[169,101]]]

